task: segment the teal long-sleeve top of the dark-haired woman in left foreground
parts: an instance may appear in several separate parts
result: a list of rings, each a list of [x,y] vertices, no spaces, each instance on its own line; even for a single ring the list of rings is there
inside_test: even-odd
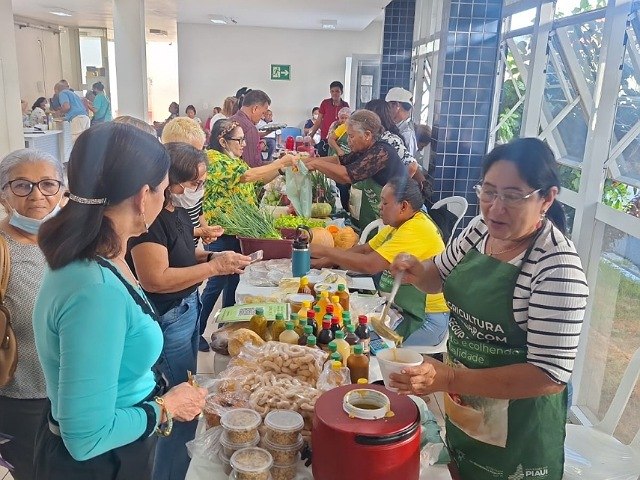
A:
[[[92,261],[46,271],[33,328],[51,414],[71,456],[87,460],[139,439],[148,415],[135,405],[155,386],[151,367],[163,340],[121,280]],[[147,403],[157,422],[158,405]]]

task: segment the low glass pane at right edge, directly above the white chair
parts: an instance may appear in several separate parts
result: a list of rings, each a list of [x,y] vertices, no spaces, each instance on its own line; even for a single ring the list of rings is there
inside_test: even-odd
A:
[[[640,347],[640,239],[607,226],[595,285],[578,405],[602,420],[631,356]],[[616,438],[629,443],[640,426],[640,389],[629,400]],[[635,413],[634,413],[635,412]]]

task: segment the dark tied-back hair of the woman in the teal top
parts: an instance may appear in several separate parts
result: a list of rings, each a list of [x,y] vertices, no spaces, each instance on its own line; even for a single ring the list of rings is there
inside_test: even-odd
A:
[[[69,159],[69,192],[85,199],[106,199],[107,205],[69,201],[42,225],[38,244],[49,267],[56,270],[75,260],[118,255],[126,245],[121,244],[107,210],[145,185],[156,188],[168,170],[165,148],[136,127],[107,122],[83,132]]]

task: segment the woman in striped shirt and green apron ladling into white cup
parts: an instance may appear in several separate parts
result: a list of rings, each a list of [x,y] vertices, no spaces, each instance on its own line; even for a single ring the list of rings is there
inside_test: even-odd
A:
[[[391,271],[451,310],[448,363],[392,375],[403,393],[445,392],[447,444],[465,480],[560,480],[565,385],[588,287],[564,215],[553,153],[537,139],[496,147],[476,186],[482,215],[445,252]]]

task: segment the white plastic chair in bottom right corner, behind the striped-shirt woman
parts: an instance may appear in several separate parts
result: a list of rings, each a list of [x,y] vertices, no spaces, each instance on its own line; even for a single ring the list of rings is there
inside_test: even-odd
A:
[[[567,425],[564,442],[565,480],[640,478],[640,431],[636,432],[629,445],[613,437],[639,376],[640,349],[631,357],[602,421],[593,427]]]

